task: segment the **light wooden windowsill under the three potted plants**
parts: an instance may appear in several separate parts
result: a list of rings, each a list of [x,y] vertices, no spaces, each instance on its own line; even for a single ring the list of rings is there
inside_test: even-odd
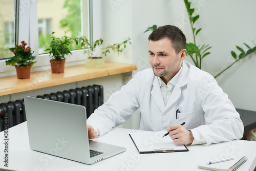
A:
[[[16,75],[1,77],[0,96],[135,70],[136,65],[105,62],[103,68],[86,68],[85,65],[66,67],[65,72],[61,74],[52,74],[51,70],[33,72],[29,79],[17,79]]]

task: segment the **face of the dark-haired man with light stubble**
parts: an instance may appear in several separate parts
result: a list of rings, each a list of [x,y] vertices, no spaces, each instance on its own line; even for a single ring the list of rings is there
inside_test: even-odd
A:
[[[181,68],[183,50],[176,54],[172,41],[169,38],[152,41],[148,44],[150,64],[156,76],[163,81],[169,81]]]

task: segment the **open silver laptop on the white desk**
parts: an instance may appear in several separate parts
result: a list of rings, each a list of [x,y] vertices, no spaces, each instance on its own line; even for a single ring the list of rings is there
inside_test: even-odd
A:
[[[35,97],[24,97],[30,148],[92,164],[126,148],[89,140],[86,108]]]

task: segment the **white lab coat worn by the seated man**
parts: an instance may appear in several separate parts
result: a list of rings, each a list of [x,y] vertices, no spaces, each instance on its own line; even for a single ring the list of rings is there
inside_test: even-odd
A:
[[[95,110],[88,124],[103,135],[125,123],[138,108],[140,130],[165,131],[170,124],[186,122],[183,126],[198,131],[206,145],[243,136],[243,123],[227,94],[214,77],[186,61],[166,106],[157,77],[152,69],[145,69]]]

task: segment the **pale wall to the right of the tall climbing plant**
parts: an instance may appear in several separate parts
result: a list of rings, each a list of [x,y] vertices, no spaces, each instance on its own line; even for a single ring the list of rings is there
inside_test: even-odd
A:
[[[234,61],[231,50],[238,52],[236,46],[245,48],[243,42],[250,45],[250,40],[256,43],[255,6],[253,0],[205,1],[199,13],[203,30],[198,41],[210,44],[212,53],[203,61],[203,70],[216,75]],[[236,108],[256,111],[255,67],[254,52],[217,77]]]

